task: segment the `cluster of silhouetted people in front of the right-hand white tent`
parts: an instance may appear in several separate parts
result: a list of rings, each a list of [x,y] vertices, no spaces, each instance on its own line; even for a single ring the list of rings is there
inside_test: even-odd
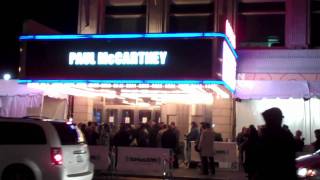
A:
[[[297,179],[295,158],[304,149],[302,132],[295,135],[287,125],[282,125],[283,115],[279,108],[262,113],[265,125],[243,127],[237,135],[240,164],[250,179]],[[315,131],[314,151],[320,149],[320,130]]]

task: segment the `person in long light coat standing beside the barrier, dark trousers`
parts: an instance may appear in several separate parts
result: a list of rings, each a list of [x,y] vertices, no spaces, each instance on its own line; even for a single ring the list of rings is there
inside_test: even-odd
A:
[[[201,156],[201,163],[202,163],[202,174],[208,175],[209,168],[211,170],[211,174],[215,174],[215,167],[214,167],[214,132],[212,127],[209,123],[204,123],[202,125],[202,132],[200,135],[199,141],[199,150]],[[208,164],[209,161],[209,164]],[[209,166],[208,166],[209,165]]]

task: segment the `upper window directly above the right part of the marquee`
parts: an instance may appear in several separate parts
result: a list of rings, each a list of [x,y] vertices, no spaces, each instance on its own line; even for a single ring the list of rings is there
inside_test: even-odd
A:
[[[214,30],[214,4],[210,0],[172,0],[169,32],[208,32]]]

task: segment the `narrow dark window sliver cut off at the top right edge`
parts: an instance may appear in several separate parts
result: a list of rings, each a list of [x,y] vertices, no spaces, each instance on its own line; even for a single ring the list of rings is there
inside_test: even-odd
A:
[[[311,1],[311,45],[320,47],[320,0]]]

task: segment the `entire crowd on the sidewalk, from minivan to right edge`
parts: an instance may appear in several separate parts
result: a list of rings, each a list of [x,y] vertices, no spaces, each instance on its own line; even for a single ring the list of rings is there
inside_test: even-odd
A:
[[[304,148],[302,132],[297,130],[293,135],[288,126],[282,125],[283,115],[279,108],[271,108],[262,113],[265,125],[250,125],[242,128],[236,141],[239,148],[240,164],[243,164],[249,180],[297,179],[295,158],[297,152]],[[89,145],[105,145],[108,147],[137,146],[170,148],[174,154],[173,167],[178,168],[180,132],[174,122],[169,125],[162,122],[135,125],[113,124],[97,125],[78,124]],[[320,129],[315,130],[316,141],[312,143],[315,151],[320,149]],[[211,124],[203,122],[198,127],[191,123],[191,130],[185,135],[187,148],[191,141],[196,141],[195,150],[201,157],[203,174],[215,174],[214,141],[222,141],[219,133],[215,133]],[[190,151],[189,151],[190,152]]]

